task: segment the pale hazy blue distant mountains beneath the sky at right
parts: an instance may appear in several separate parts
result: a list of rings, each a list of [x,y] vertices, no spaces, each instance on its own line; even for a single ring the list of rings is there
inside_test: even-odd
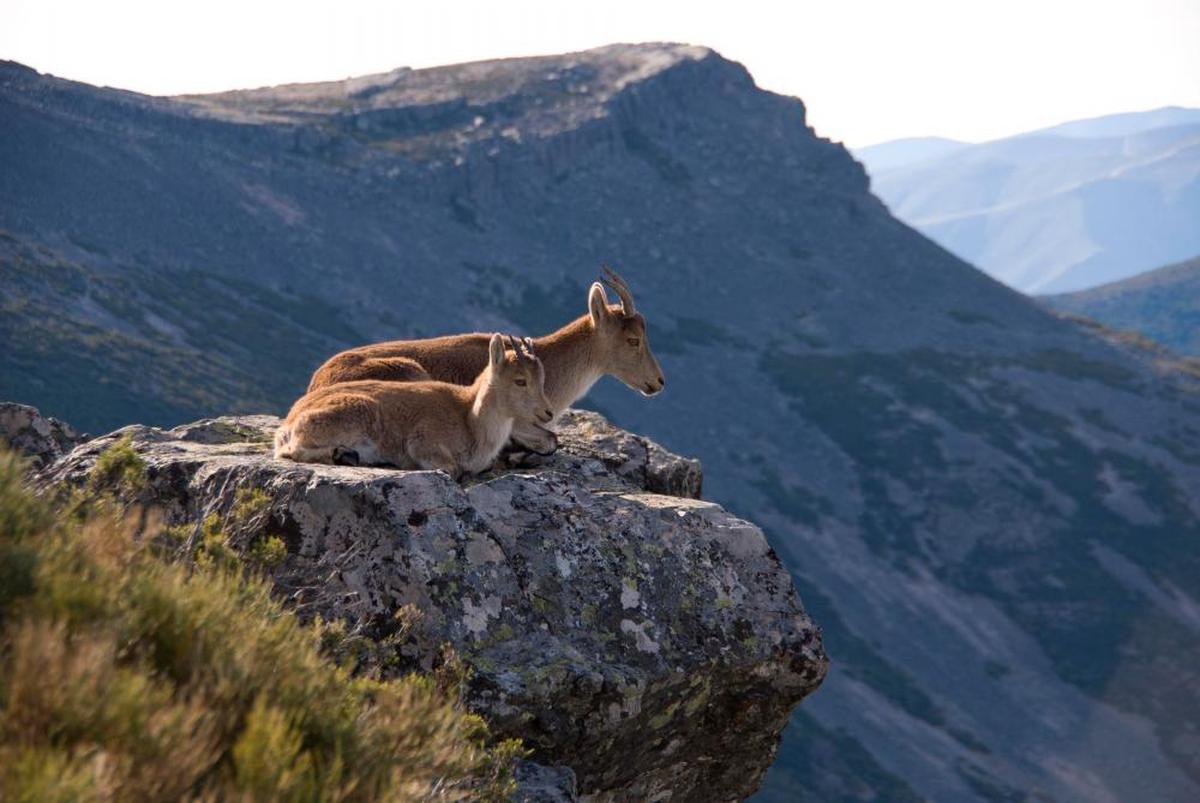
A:
[[[1081,120],[895,167],[864,163],[898,217],[1027,293],[1082,289],[1200,252],[1196,109]]]

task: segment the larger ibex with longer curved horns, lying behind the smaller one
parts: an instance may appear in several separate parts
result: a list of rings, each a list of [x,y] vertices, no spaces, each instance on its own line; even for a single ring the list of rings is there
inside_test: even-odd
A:
[[[554,415],[606,373],[647,396],[666,384],[646,337],[646,319],[634,307],[634,294],[616,271],[605,268],[605,272],[602,281],[620,299],[619,306],[610,305],[604,284],[595,282],[588,290],[587,314],[532,341],[546,366],[546,398]],[[322,365],[308,392],[356,379],[408,382],[422,371],[440,382],[470,384],[487,362],[487,335],[470,334],[361,346]],[[514,429],[514,439],[534,451],[546,451],[541,445],[547,436],[553,437],[532,420],[518,420]]]

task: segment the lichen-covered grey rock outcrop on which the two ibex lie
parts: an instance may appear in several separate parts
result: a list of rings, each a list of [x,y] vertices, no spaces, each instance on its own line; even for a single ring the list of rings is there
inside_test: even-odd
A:
[[[473,670],[472,708],[533,749],[522,799],[575,799],[576,784],[588,801],[757,789],[828,661],[762,531],[697,498],[698,463],[572,412],[544,465],[458,485],[276,461],[277,425],[130,426],[40,481],[86,483],[127,436],[145,462],[133,499],[192,538],[217,516],[242,553],[280,538],[274,582],[301,615],[391,637],[395,671],[449,642]],[[397,612],[414,611],[396,639]]]

